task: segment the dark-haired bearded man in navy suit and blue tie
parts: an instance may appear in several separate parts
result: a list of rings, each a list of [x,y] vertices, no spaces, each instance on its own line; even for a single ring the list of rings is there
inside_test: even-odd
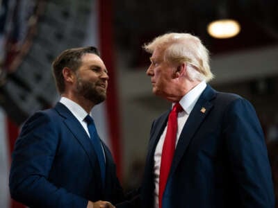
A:
[[[92,46],[63,51],[52,67],[60,102],[24,123],[10,194],[28,207],[113,207],[122,187],[91,115],[106,99],[108,71]]]

